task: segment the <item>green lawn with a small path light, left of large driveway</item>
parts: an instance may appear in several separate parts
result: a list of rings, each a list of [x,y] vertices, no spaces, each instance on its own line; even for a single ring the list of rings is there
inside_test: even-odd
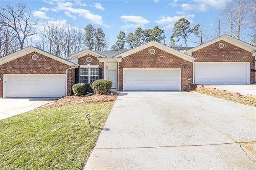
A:
[[[40,109],[1,120],[0,169],[82,169],[113,104]]]

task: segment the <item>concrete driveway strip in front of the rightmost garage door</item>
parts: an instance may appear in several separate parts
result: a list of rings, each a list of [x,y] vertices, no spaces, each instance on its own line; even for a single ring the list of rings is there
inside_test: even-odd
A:
[[[216,89],[222,89],[226,91],[232,91],[240,93],[244,96],[256,97],[256,84],[250,85],[204,85],[204,87],[215,87]]]

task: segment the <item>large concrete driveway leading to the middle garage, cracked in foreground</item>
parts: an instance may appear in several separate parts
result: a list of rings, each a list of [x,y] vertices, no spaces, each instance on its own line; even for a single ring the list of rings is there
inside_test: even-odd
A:
[[[189,92],[121,92],[92,169],[255,169],[256,108]]]

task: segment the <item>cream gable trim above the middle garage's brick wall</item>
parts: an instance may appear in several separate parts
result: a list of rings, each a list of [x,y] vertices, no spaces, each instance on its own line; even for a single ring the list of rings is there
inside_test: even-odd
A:
[[[154,47],[156,47],[158,49],[162,49],[162,50],[164,50],[164,51],[166,51],[168,53],[176,55],[177,57],[180,57],[180,58],[185,59],[185,60],[190,61],[190,62],[193,62],[196,59],[194,57],[191,57],[188,54],[182,53],[182,52],[180,52],[180,51],[178,51],[176,49],[173,49],[171,47],[168,47],[168,46],[166,46],[166,45],[164,45],[162,43],[156,42],[156,41],[151,41],[151,42],[145,43],[143,45],[140,45],[138,47],[135,47],[133,49],[130,49],[128,51],[120,53],[118,55],[115,55],[114,58],[119,58],[119,57],[124,58],[124,57],[127,57],[128,55],[131,55],[133,53],[141,51],[142,49],[146,49],[146,48],[148,48],[150,46],[154,46]]]

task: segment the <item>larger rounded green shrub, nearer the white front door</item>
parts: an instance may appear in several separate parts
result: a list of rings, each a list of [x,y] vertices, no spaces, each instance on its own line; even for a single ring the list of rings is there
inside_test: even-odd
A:
[[[112,82],[110,80],[96,80],[91,84],[92,90],[94,93],[100,95],[107,95],[110,93],[112,87]]]

